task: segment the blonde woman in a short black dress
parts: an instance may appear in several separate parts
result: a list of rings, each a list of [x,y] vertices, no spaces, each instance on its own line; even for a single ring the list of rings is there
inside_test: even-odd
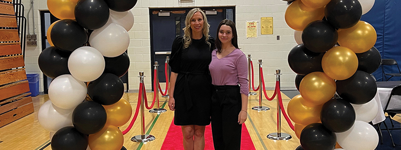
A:
[[[184,36],[174,39],[171,48],[170,97],[174,124],[181,125],[183,146],[205,148],[205,126],[210,124],[212,78],[209,63],[215,39],[209,35],[206,14],[200,8],[186,15]]]

